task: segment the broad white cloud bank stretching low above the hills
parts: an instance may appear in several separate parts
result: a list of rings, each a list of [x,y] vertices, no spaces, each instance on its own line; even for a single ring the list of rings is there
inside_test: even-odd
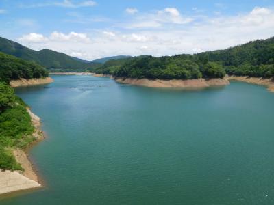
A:
[[[174,23],[174,18],[191,18],[194,21]],[[36,36],[28,34],[20,40],[32,49],[53,49],[89,60],[112,55],[199,53],[273,36],[274,10],[256,7],[234,16],[193,17],[166,8],[152,14],[138,13],[122,23],[131,27],[108,27],[91,30],[90,33],[55,31],[49,36],[35,33]]]

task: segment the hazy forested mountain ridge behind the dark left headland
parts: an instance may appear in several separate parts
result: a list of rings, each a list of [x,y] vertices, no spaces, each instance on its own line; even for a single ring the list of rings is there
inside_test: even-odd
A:
[[[99,64],[95,62],[82,61],[64,53],[43,49],[34,51],[21,44],[0,37],[0,51],[14,55],[21,59],[34,61],[51,71],[58,72],[80,72],[91,68],[96,68]]]

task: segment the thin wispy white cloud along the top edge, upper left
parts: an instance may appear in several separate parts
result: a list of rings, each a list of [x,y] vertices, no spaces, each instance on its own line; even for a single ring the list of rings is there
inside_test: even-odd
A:
[[[51,3],[36,3],[33,5],[21,5],[22,8],[37,8],[37,7],[48,7],[48,6],[59,6],[64,8],[81,8],[81,7],[92,7],[97,5],[95,1],[82,1],[79,3],[73,3],[70,0],[56,1]]]

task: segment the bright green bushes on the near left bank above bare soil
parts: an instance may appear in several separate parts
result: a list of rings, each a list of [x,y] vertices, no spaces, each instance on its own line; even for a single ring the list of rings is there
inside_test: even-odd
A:
[[[21,169],[8,148],[25,148],[34,141],[26,105],[6,83],[0,83],[0,169]]]

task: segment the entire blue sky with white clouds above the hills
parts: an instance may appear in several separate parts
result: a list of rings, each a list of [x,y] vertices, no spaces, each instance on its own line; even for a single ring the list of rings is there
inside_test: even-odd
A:
[[[0,0],[0,36],[82,59],[197,53],[274,36],[274,1]]]

